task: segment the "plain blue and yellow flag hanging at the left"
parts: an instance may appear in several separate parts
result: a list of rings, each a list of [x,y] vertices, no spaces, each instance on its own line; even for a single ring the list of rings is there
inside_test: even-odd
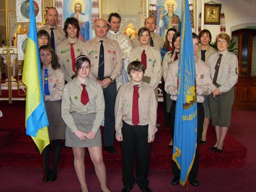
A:
[[[25,127],[42,153],[49,144],[48,119],[44,106],[43,84],[33,0],[29,0],[30,25],[26,43],[22,81],[27,85]]]

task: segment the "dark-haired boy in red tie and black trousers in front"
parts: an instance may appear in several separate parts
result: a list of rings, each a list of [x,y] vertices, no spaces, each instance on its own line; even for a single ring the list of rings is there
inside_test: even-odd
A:
[[[144,192],[150,192],[147,179],[151,142],[157,132],[157,100],[153,88],[142,81],[144,66],[133,61],[127,68],[131,82],[119,88],[114,110],[116,139],[121,142],[121,192],[129,192],[135,182]],[[136,157],[136,178],[133,175]]]

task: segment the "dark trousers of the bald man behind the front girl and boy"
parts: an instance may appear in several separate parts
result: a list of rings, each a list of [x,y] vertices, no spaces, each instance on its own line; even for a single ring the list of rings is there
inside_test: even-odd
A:
[[[114,104],[117,97],[117,83],[113,81],[103,89],[105,99],[104,146],[113,146],[114,142]]]

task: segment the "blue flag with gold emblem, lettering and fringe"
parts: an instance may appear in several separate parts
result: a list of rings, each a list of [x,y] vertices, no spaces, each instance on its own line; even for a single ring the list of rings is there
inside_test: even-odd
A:
[[[188,0],[183,1],[178,90],[172,159],[181,170],[180,184],[185,185],[197,147],[196,68]]]

